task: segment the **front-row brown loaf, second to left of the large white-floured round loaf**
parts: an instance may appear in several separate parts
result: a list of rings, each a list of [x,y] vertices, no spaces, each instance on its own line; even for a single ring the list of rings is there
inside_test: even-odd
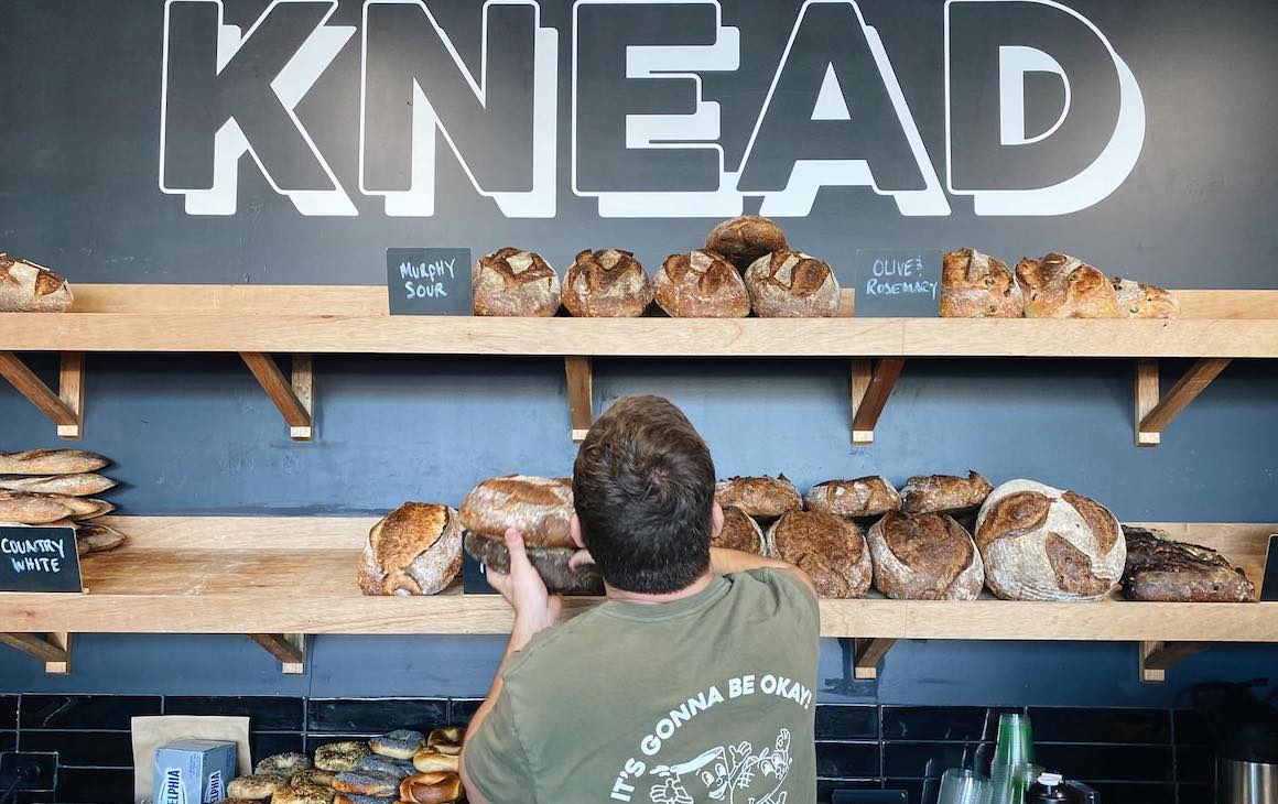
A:
[[[812,578],[820,597],[865,597],[873,574],[861,529],[824,511],[790,511],[768,528],[776,555]]]

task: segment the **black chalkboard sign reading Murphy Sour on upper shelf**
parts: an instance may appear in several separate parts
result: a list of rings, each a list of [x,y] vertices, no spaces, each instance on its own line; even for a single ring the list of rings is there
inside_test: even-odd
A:
[[[392,316],[469,316],[469,248],[387,248]]]

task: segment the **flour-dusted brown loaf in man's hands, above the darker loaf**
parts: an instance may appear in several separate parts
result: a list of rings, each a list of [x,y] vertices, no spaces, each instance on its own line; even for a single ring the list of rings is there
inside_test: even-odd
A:
[[[461,524],[472,533],[504,537],[523,533],[529,547],[570,547],[573,482],[567,478],[506,474],[483,481],[461,501]]]

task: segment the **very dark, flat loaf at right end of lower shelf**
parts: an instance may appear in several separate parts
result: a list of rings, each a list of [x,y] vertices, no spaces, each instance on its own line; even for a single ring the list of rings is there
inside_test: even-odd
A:
[[[1163,530],[1122,527],[1127,562],[1122,592],[1130,601],[1251,603],[1256,587],[1217,551],[1177,542]]]

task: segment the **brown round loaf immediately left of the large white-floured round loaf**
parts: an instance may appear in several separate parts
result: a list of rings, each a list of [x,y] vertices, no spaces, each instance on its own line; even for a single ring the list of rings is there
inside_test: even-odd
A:
[[[974,601],[985,585],[980,552],[952,516],[888,511],[865,539],[874,588],[893,599]]]

